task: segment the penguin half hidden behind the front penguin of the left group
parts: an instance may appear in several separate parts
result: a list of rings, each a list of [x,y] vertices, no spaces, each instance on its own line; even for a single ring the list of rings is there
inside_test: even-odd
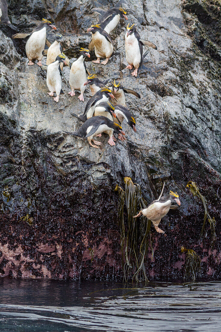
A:
[[[56,34],[55,41],[49,46],[48,49],[43,50],[43,55],[47,55],[46,59],[46,65],[48,66],[50,63],[54,62],[56,57],[62,53],[61,49],[61,42],[63,41],[61,34]],[[67,63],[67,66],[70,67],[70,61],[68,57],[65,55],[65,61]],[[63,70],[64,63],[60,63],[60,68]]]

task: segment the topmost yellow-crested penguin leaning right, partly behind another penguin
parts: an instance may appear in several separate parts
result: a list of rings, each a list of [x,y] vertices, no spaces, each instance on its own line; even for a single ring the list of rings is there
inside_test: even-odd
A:
[[[104,29],[108,34],[110,34],[111,31],[116,28],[121,18],[127,20],[126,9],[122,7],[111,8],[107,12],[101,8],[93,8],[92,11],[101,15],[98,23],[101,24],[101,28]],[[93,47],[94,43],[91,40],[88,48],[90,51],[92,51]]]

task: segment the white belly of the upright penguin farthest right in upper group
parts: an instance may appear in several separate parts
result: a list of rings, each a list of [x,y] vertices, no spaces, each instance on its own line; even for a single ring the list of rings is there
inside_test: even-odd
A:
[[[141,61],[140,47],[134,34],[128,37],[125,35],[125,55],[129,64],[133,65],[134,68],[139,68]]]

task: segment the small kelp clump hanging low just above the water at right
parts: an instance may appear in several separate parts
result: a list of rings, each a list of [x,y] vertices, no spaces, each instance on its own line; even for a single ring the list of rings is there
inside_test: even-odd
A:
[[[186,249],[184,246],[181,247],[181,252],[186,254],[186,263],[185,263],[185,274],[184,280],[196,279],[197,274],[201,270],[201,260],[196,252],[192,249]]]

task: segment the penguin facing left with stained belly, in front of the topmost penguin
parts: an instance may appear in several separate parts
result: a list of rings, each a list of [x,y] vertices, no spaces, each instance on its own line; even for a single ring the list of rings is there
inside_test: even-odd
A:
[[[100,58],[106,58],[101,64],[106,64],[113,53],[113,43],[109,34],[100,27],[100,24],[92,25],[87,32],[92,32],[95,55],[97,60],[94,63],[100,63]]]

